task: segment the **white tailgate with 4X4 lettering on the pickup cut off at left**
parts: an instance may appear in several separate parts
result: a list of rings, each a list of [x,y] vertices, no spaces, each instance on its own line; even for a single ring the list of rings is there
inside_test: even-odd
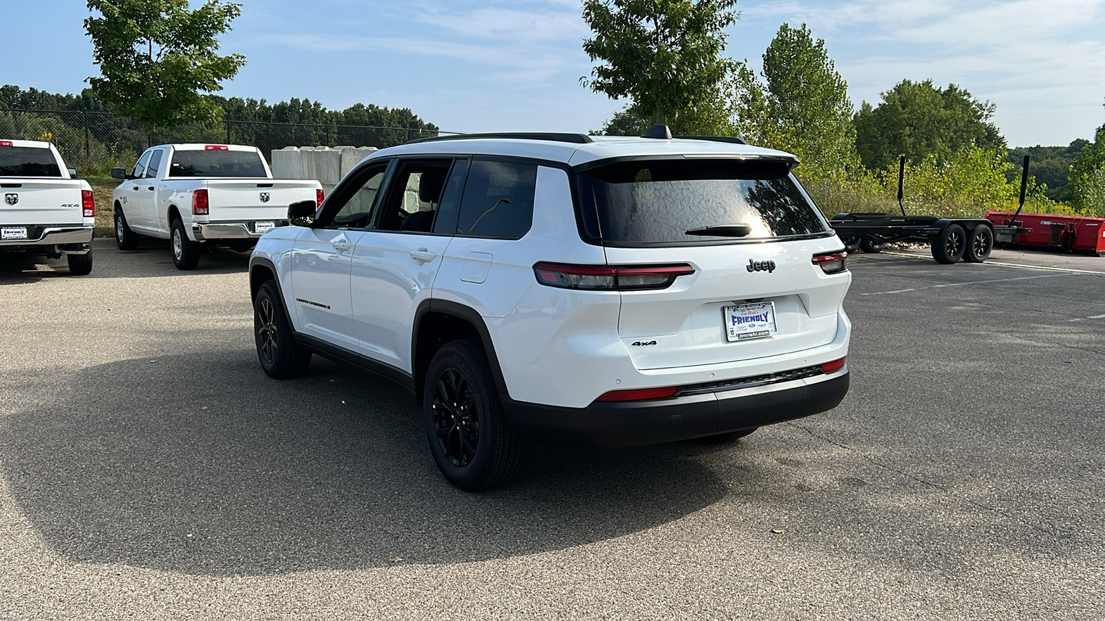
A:
[[[77,179],[0,180],[0,224],[81,224],[83,182]]]

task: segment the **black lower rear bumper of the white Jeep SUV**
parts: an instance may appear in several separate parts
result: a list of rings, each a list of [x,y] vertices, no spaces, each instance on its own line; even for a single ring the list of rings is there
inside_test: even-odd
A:
[[[835,408],[849,370],[747,389],[629,403],[560,408],[501,396],[511,428],[526,442],[635,446],[715,435]]]

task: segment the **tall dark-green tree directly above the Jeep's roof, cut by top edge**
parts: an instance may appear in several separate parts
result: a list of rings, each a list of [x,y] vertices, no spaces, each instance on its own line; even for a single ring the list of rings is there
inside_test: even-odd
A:
[[[652,118],[675,133],[718,133],[728,116],[723,87],[733,62],[720,56],[737,0],[586,0],[583,41],[591,76],[580,83],[612,99],[629,98],[612,127]],[[613,123],[613,122],[612,122]],[[713,127],[711,125],[714,125]],[[608,126],[610,127],[610,126]]]

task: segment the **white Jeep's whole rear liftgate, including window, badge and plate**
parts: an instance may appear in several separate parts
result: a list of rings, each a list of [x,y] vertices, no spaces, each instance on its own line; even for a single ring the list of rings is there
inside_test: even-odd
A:
[[[618,333],[636,368],[750,360],[833,340],[850,278],[827,274],[813,256],[843,245],[791,164],[633,159],[583,176],[583,209],[596,211],[609,264],[695,270],[667,288],[622,292]]]

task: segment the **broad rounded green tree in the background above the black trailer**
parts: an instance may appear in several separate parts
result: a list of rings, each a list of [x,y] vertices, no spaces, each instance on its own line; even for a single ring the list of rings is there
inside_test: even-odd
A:
[[[882,94],[877,107],[864,102],[855,115],[856,149],[864,166],[881,170],[902,155],[912,164],[929,156],[940,161],[968,146],[1004,149],[991,122],[994,105],[949,84],[903,80]]]

